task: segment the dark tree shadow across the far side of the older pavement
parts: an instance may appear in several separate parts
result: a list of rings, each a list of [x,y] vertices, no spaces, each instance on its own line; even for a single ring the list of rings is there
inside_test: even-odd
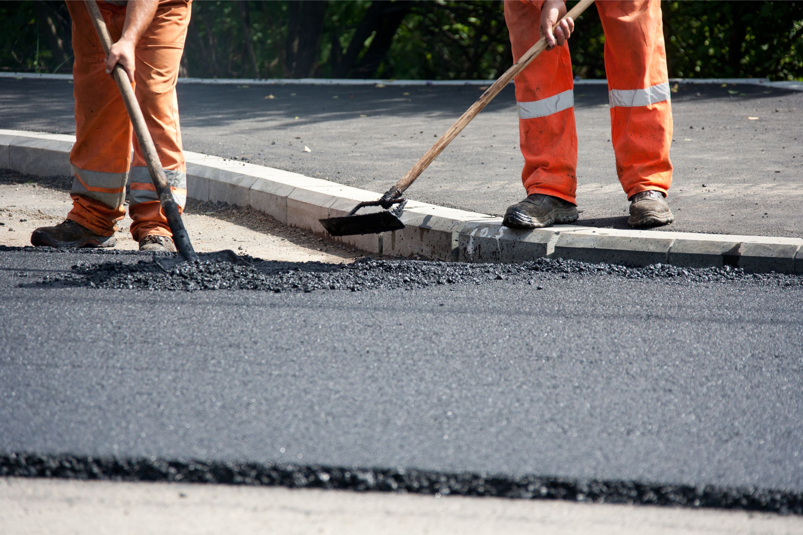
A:
[[[255,128],[250,122],[247,129],[249,132],[267,132],[305,124],[336,123],[360,116],[453,116],[456,120],[483,91],[477,86],[181,84],[178,86],[178,100],[179,107],[189,111],[181,116],[181,124],[187,127],[214,130],[243,119],[265,120],[264,128]],[[729,84],[727,87],[680,84],[672,99],[764,99],[769,95],[793,92],[744,84]],[[268,98],[271,95],[273,98]],[[607,87],[604,85],[578,85],[574,95],[577,108],[608,105]],[[72,84],[66,80],[0,79],[3,128],[31,128],[31,116],[40,115],[40,110],[46,108],[46,121],[51,126],[40,129],[75,132],[72,102]],[[516,97],[513,86],[505,87],[486,109],[514,112]]]

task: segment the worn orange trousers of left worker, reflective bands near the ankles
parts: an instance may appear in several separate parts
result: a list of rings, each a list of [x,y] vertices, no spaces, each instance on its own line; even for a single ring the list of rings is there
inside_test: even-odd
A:
[[[120,39],[125,6],[98,2],[112,40]],[[72,18],[72,69],[75,84],[75,145],[70,152],[74,178],[67,214],[101,236],[111,236],[125,216],[125,184],[129,179],[128,213],[132,237],[171,236],[165,213],[142,157],[120,91],[106,74],[106,55],[84,2],[67,2]],[[190,2],[160,2],[153,22],[137,43],[134,87],[145,123],[165,168],[173,198],[186,202],[186,166],[178,126],[176,79],[184,50]],[[133,144],[133,161],[131,148]]]

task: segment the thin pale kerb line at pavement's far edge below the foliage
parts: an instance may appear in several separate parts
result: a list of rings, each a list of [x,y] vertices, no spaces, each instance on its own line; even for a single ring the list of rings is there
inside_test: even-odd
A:
[[[69,74],[48,74],[37,72],[0,72],[0,78],[14,79],[42,79],[42,80],[71,80]],[[238,85],[238,86],[281,86],[281,85],[309,85],[309,86],[487,86],[496,80],[399,80],[399,79],[350,79],[350,78],[179,78],[177,83],[206,83],[210,85]],[[746,83],[748,85],[777,87],[791,91],[803,91],[803,82],[777,81],[771,82],[766,78],[671,78],[670,83]],[[512,83],[512,82],[511,82]],[[607,85],[606,79],[579,79],[574,85]]]

